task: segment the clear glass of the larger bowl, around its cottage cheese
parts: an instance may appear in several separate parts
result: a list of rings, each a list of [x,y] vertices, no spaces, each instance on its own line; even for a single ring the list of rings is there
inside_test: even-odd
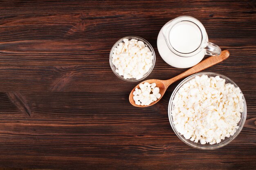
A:
[[[186,79],[184,79],[182,82],[180,82],[180,84],[177,85],[177,87],[174,89],[173,94],[171,95],[170,101],[169,101],[169,106],[168,106],[168,116],[169,116],[169,121],[171,124],[171,127],[173,128],[173,131],[175,132],[175,134],[187,145],[192,146],[194,148],[198,148],[198,149],[203,149],[203,150],[212,150],[212,149],[217,149],[217,148],[221,148],[227,144],[229,144],[233,139],[235,139],[237,137],[237,135],[241,132],[244,124],[245,124],[245,120],[246,120],[246,115],[247,115],[247,106],[246,106],[246,102],[245,102],[245,97],[243,95],[243,100],[244,100],[244,111],[241,113],[241,119],[238,122],[239,128],[236,130],[235,134],[233,136],[230,137],[225,137],[225,139],[221,140],[219,144],[200,144],[200,141],[198,141],[198,143],[195,143],[194,141],[191,141],[190,139],[186,139],[183,135],[181,135],[175,128],[175,125],[173,123],[173,117],[171,115],[171,110],[173,109],[173,99],[177,93],[177,91],[180,90],[180,88],[186,83],[189,82],[189,80],[195,78],[195,76],[201,76],[201,75],[208,75],[208,77],[215,77],[215,76],[220,76],[220,78],[225,79],[225,83],[230,83],[230,84],[234,84],[235,87],[238,87],[236,85],[235,82],[233,82],[231,79],[229,79],[229,77],[226,77],[225,75],[221,75],[218,73],[213,73],[213,72],[202,72],[202,73],[196,73],[193,74],[189,77],[187,77]]]

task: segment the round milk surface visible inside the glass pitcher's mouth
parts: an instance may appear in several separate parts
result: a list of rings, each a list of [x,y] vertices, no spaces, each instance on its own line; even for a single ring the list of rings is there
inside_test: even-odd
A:
[[[191,53],[200,46],[202,34],[199,27],[193,22],[182,21],[173,26],[169,39],[176,51]]]

